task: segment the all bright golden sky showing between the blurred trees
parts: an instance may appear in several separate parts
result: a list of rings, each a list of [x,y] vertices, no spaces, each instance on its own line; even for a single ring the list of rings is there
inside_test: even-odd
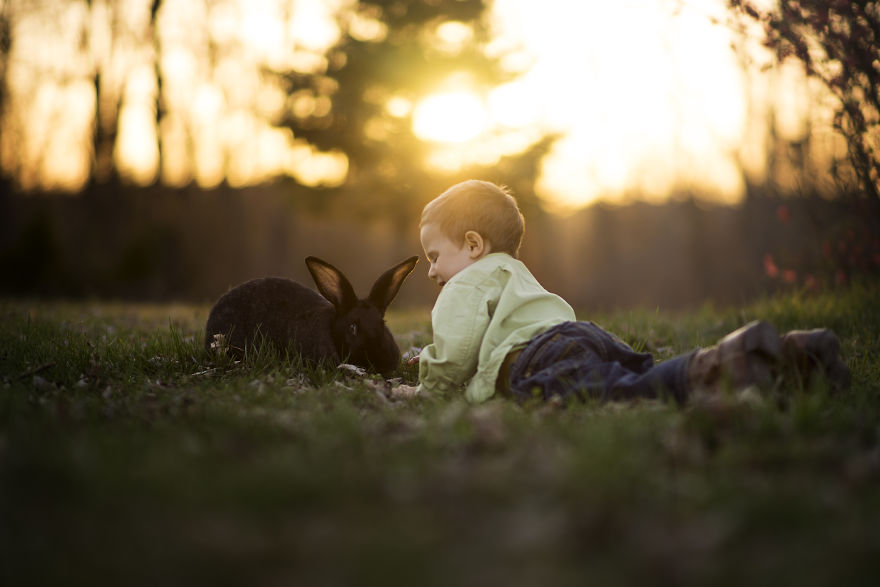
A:
[[[0,0],[7,3],[13,11],[30,5]],[[210,187],[225,177],[241,186],[288,174],[317,186],[344,179],[343,154],[319,152],[275,126],[285,108],[330,104],[292,101],[260,71],[320,70],[322,53],[339,34],[333,15],[352,0],[165,0],[159,66],[173,107],[158,129],[153,48],[144,42],[150,2],[112,4],[115,10],[102,9],[94,0],[90,11],[84,1],[58,1],[15,12],[0,155],[25,187],[84,183],[96,67],[105,72],[104,98],[121,98],[113,159],[132,181],[158,176],[172,185],[194,180]],[[757,43],[744,64],[731,48],[737,39],[724,6],[724,0],[495,0],[486,51],[504,55],[505,67],[519,77],[480,91],[462,73],[425,88],[415,103],[394,98],[387,109],[412,114],[414,132],[433,146],[425,164],[440,169],[491,165],[546,132],[560,133],[536,185],[559,209],[633,194],[662,201],[688,190],[736,202],[743,171],[752,177],[765,171],[768,116],[778,132],[797,138],[822,109],[797,68],[764,67],[769,57]],[[350,22],[363,38],[384,34],[376,21]],[[447,23],[435,39],[454,51],[470,42],[470,30]]]

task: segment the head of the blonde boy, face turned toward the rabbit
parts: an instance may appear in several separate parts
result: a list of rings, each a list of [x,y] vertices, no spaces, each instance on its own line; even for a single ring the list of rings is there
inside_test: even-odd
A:
[[[516,258],[524,221],[507,189],[487,181],[458,183],[422,210],[422,246],[429,277],[442,286],[455,273],[488,253]]]

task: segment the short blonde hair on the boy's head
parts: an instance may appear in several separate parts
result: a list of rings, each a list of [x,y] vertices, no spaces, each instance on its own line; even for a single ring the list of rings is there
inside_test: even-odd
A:
[[[464,242],[467,231],[478,232],[493,252],[519,257],[525,220],[516,199],[505,186],[469,179],[457,183],[422,210],[421,228],[436,224],[452,241]]]

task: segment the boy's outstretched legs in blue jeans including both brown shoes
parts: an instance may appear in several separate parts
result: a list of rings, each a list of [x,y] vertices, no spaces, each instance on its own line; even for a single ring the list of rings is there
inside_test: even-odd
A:
[[[715,346],[654,365],[620,339],[589,322],[566,322],[539,335],[510,369],[518,401],[535,397],[629,400],[672,396],[684,403],[693,393],[770,387],[782,369],[810,383],[825,377],[835,390],[849,385],[839,359],[840,343],[826,329],[792,331],[779,337],[767,322],[746,324]]]

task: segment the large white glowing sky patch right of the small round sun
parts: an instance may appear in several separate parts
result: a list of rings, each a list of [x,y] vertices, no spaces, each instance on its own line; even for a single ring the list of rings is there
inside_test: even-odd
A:
[[[746,91],[730,31],[716,24],[724,5],[677,6],[496,1],[496,39],[532,61],[507,88],[508,116],[528,113],[562,136],[536,186],[552,205],[683,189],[740,197]]]

